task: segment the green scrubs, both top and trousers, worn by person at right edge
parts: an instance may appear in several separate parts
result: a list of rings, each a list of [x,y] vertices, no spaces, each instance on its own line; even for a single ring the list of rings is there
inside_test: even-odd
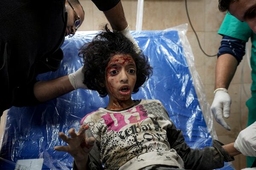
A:
[[[246,102],[249,110],[247,122],[247,126],[249,126],[256,121],[256,34],[253,33],[247,23],[239,21],[230,13],[226,14],[218,34],[227,35],[229,37],[237,38],[246,42],[251,37],[252,50],[250,64],[252,67],[251,76],[253,80],[251,86],[252,97]],[[247,156],[247,167],[251,167],[254,160],[255,157]]]

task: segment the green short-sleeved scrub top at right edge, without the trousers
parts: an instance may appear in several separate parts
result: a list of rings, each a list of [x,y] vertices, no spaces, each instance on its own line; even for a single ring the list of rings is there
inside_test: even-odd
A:
[[[236,17],[227,13],[221,27],[219,28],[218,34],[227,35],[229,37],[237,38],[243,41],[248,41],[251,37],[252,49],[250,65],[252,67],[252,96],[256,97],[256,34],[253,33],[247,23],[239,21]]]

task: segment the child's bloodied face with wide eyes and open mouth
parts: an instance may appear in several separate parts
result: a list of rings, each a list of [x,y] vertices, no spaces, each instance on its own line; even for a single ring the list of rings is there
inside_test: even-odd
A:
[[[116,54],[106,68],[105,87],[112,100],[131,100],[136,83],[136,64],[128,54]]]

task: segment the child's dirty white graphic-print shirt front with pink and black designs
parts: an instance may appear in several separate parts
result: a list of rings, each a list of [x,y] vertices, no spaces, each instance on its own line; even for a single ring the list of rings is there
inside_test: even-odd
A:
[[[167,141],[166,129],[173,124],[159,100],[142,99],[124,111],[99,108],[81,124],[90,126],[105,169],[139,170],[154,164],[184,167]]]

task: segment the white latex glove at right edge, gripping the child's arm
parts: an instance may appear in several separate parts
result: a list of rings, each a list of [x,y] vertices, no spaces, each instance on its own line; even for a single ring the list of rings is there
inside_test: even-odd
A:
[[[256,122],[239,133],[234,147],[244,156],[256,156]]]

